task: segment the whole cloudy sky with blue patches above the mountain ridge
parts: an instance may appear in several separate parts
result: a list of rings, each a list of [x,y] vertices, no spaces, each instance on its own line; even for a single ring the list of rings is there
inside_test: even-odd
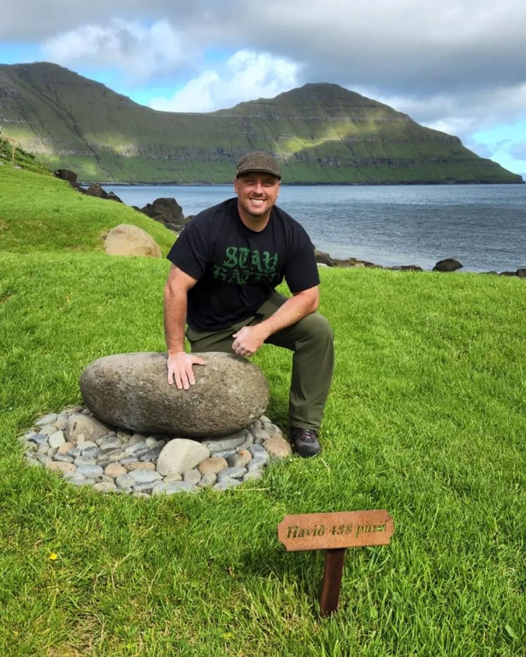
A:
[[[0,63],[165,111],[337,83],[526,180],[525,25],[525,0],[2,0]]]

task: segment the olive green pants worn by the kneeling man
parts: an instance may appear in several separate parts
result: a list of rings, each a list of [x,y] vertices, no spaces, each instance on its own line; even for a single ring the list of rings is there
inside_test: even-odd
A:
[[[231,353],[232,334],[243,326],[267,319],[286,300],[282,294],[272,292],[254,316],[217,332],[194,331],[188,327],[186,335],[191,351]],[[319,313],[312,313],[269,336],[265,344],[275,344],[294,352],[289,395],[290,425],[318,431],[334,367],[333,334],[328,321]]]

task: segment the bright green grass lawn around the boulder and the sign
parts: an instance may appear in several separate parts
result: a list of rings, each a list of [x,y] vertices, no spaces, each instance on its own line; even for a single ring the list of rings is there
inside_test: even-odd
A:
[[[91,360],[164,349],[168,262],[105,255],[119,223],[172,243],[126,206],[0,167],[1,656],[525,655],[525,282],[321,269],[323,454],[227,492],[96,494],[29,466],[18,436],[81,401]],[[284,427],[290,355],[255,363]],[[347,550],[320,618],[324,553],[287,553],[278,523],[382,508],[391,545]]]

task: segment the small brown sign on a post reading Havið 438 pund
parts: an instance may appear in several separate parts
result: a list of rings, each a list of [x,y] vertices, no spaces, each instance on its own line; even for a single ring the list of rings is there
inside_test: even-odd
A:
[[[393,531],[393,518],[383,509],[304,513],[285,515],[278,540],[289,552],[326,550],[320,609],[329,616],[338,608],[346,548],[388,545]]]

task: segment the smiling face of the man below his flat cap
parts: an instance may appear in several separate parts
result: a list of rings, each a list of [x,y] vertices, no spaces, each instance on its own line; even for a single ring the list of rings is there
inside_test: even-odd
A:
[[[279,194],[279,179],[269,173],[245,173],[234,180],[241,219],[264,222],[269,219]]]

